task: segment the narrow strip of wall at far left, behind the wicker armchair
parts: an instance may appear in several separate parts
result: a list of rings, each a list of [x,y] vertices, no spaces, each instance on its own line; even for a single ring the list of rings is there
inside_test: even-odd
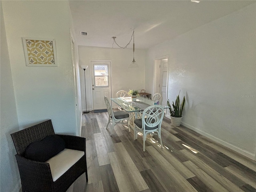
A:
[[[2,2],[0,2],[2,4]],[[0,36],[0,191],[18,191],[20,188],[16,154],[10,134],[19,130],[16,102],[12,82],[12,72],[7,47],[4,18],[1,7],[1,36]]]

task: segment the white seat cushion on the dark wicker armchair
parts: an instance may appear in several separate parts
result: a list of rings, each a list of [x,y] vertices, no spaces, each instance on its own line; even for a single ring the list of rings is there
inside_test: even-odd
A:
[[[56,181],[60,178],[60,176],[72,167],[82,156],[84,156],[84,151],[64,149],[56,156],[48,159],[46,163],[50,164],[52,180]]]

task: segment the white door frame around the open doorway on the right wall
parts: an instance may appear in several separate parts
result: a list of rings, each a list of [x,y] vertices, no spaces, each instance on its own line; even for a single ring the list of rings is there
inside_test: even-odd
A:
[[[167,66],[167,82],[166,82],[166,98],[168,98],[168,78],[169,78],[169,64],[170,64],[170,59],[169,59],[169,55],[164,55],[164,56],[161,56],[161,57],[157,57],[157,58],[154,58],[154,76],[153,76],[153,90],[154,92],[159,92],[160,90],[160,87],[159,87],[159,84],[160,84],[160,76],[159,76],[159,73],[160,73],[160,62],[161,60],[163,59],[168,59],[168,66]],[[170,112],[168,109],[165,109],[165,116],[170,118]]]

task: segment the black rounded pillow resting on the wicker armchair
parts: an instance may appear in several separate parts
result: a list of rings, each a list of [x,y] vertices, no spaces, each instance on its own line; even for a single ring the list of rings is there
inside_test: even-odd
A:
[[[46,162],[65,148],[65,141],[58,135],[48,135],[44,139],[29,144],[25,157],[30,160]]]

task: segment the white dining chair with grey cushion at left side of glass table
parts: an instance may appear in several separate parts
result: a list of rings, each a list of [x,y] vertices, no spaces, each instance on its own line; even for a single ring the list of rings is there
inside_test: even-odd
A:
[[[114,129],[114,126],[116,124],[126,124],[126,122],[124,120],[127,120],[127,124],[128,124],[128,128],[129,128],[129,132],[130,132],[130,117],[129,117],[129,113],[125,112],[124,110],[121,111],[113,111],[112,107],[108,101],[108,98],[105,96],[104,97],[105,103],[106,103],[106,107],[108,110],[108,124],[111,122],[112,123],[112,128],[110,131],[110,136],[112,136],[112,131]],[[106,128],[108,128],[108,124],[106,126]]]

